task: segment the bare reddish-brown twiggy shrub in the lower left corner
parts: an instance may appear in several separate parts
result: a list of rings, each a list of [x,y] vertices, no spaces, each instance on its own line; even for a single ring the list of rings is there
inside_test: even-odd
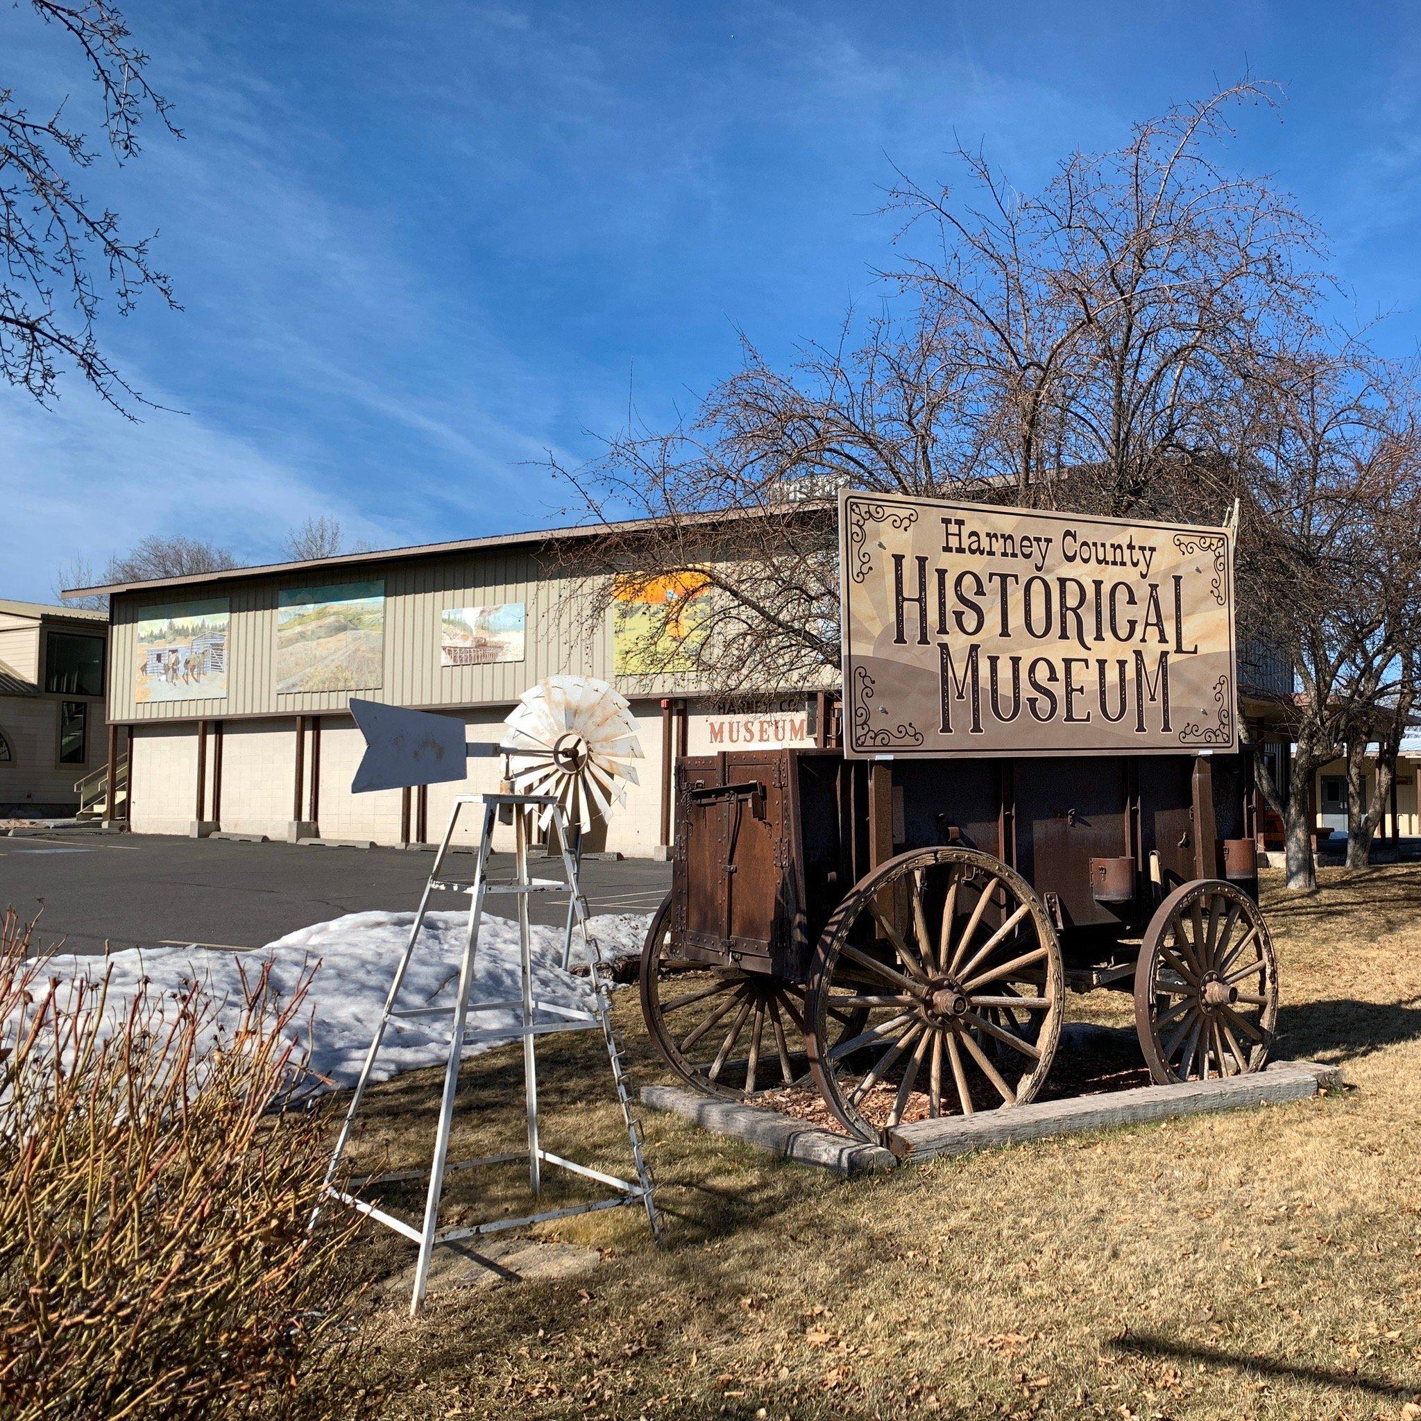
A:
[[[45,982],[0,921],[0,1411],[186,1418],[347,1414],[354,1214],[307,1221],[320,1120],[266,972],[215,1036],[200,990]],[[216,1042],[216,1044],[213,1044]]]

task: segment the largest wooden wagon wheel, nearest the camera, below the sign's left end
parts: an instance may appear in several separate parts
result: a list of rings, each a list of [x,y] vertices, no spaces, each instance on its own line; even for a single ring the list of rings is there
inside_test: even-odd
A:
[[[912,850],[860,880],[818,941],[814,1081],[865,1140],[1025,1103],[1050,1070],[1064,999],[1056,931],[1020,874],[975,848]],[[831,1030],[854,1009],[860,1030]]]

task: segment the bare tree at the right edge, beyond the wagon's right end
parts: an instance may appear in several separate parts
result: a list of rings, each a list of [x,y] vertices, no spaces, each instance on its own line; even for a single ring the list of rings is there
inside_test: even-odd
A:
[[[1238,600],[1245,631],[1290,661],[1297,689],[1276,720],[1292,740],[1287,783],[1256,763],[1258,787],[1285,826],[1287,885],[1316,885],[1316,773],[1393,718],[1410,718],[1398,672],[1421,558],[1414,392],[1356,341],[1260,368],[1206,470],[1241,499]],[[1390,708],[1390,709],[1388,709]],[[1388,732],[1390,733],[1390,732]],[[1373,826],[1374,827],[1374,826]]]

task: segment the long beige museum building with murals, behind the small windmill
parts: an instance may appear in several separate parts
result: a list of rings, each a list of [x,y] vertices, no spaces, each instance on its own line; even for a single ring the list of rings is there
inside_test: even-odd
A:
[[[401,844],[438,838],[456,793],[493,789],[497,759],[468,779],[352,794],[362,740],[350,698],[459,716],[496,742],[540,678],[611,681],[632,702],[644,759],[627,806],[588,848],[665,854],[671,756],[814,745],[828,698],[728,709],[665,676],[618,675],[615,618],[588,635],[550,540],[595,530],[472,539],[313,563],[101,588],[111,595],[109,715],[126,732],[126,817],[136,833],[242,834]]]

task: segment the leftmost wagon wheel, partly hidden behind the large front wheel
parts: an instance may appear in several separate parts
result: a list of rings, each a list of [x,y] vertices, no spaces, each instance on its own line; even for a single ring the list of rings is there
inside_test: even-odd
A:
[[[743,1100],[804,1074],[803,989],[676,958],[669,895],[641,949],[641,1012],[661,1059],[702,1094]]]

